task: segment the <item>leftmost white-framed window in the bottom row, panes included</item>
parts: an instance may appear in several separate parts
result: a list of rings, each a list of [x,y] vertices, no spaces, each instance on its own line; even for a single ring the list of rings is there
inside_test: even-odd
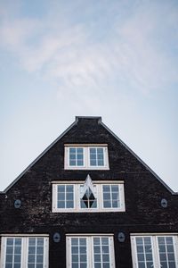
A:
[[[48,239],[44,237],[3,237],[2,267],[47,268]]]

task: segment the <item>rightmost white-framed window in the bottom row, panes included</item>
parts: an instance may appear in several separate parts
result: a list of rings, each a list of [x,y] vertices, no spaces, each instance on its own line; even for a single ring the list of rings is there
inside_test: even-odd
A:
[[[177,236],[133,236],[131,241],[134,268],[178,267]]]

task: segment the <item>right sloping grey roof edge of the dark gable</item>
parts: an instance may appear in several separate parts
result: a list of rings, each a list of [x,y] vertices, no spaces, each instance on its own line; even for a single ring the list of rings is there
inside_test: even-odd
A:
[[[150,166],[148,166],[146,163],[144,163],[144,161],[142,161],[142,159],[138,156],[138,155],[136,155],[135,153],[134,153],[134,151],[130,148],[130,147],[128,147],[125,143],[124,143],[124,141],[122,141],[122,139],[120,139],[120,138],[118,138],[117,137],[117,135],[112,131],[112,130],[110,130],[102,121],[101,121],[101,125],[106,129],[106,130],[108,130],[109,131],[109,133],[114,137],[114,138],[117,138],[117,140],[132,154],[132,155],[134,155],[134,157],[136,157],[136,159],[139,161],[139,162],[141,162],[144,166],[145,166],[145,168],[148,170],[148,171],[150,171],[151,172],[151,174],[152,175],[154,175],[165,187],[166,187],[166,189],[169,191],[169,192],[171,192],[171,194],[172,195],[178,195],[178,192],[174,192],[174,190],[172,190],[172,188],[170,188],[167,184],[166,184],[166,182],[164,181],[164,180],[162,180],[159,176],[158,176],[158,174],[157,173],[155,173],[155,172],[153,172],[153,170],[150,168]]]

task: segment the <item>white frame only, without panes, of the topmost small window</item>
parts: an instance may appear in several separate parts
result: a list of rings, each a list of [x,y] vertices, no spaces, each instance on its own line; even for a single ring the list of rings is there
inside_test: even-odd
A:
[[[65,170],[109,170],[109,154],[107,144],[66,144],[64,145],[64,169]],[[69,164],[69,149],[70,148],[83,148],[84,157],[83,165],[70,165]],[[103,148],[103,165],[90,164],[90,148]]]

